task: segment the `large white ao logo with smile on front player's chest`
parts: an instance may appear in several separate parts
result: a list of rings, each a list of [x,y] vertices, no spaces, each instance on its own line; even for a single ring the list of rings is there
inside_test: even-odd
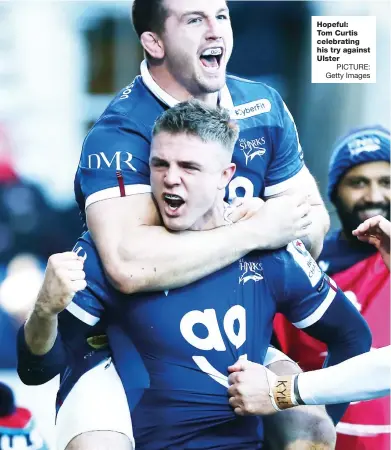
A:
[[[238,327],[235,327],[236,321],[239,325]],[[208,331],[206,337],[200,338],[195,334],[194,327],[198,324],[203,325]],[[246,310],[243,306],[232,306],[226,312],[223,320],[223,328],[228,340],[237,349],[246,342]],[[214,309],[189,311],[182,317],[180,330],[186,341],[199,350],[216,350],[218,352],[225,352],[227,350]],[[217,383],[228,388],[228,377],[215,369],[204,356],[193,356],[192,358],[202,372],[209,375]]]

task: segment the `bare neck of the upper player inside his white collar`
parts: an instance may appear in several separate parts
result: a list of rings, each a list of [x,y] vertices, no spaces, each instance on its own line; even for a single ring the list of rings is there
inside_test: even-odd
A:
[[[148,65],[148,69],[155,83],[178,102],[185,102],[192,98],[196,98],[210,106],[217,105],[218,92],[202,94],[192,93],[181,85],[164,65]]]

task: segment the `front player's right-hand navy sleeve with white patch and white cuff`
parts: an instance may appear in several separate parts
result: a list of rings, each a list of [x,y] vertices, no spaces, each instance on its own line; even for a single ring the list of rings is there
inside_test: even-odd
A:
[[[336,297],[338,288],[334,281],[320,270],[300,240],[280,251],[273,266],[268,278],[273,284],[278,312],[300,329],[318,322]]]

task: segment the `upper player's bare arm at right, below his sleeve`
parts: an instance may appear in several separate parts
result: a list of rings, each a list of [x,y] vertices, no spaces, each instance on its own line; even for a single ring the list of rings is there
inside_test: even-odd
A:
[[[301,240],[311,253],[312,257],[318,259],[323,248],[323,240],[330,228],[330,217],[326,206],[320,195],[318,186],[314,177],[307,168],[302,169],[295,177],[291,187],[281,193],[281,195],[305,194],[308,195],[311,205],[309,218],[311,225],[307,229],[307,235]],[[275,197],[275,196],[274,196]],[[269,197],[273,198],[273,196]]]

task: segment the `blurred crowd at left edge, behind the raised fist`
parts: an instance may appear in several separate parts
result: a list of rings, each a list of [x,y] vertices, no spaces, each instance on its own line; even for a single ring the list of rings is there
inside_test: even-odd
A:
[[[11,150],[0,129],[0,370],[16,367],[16,332],[48,257],[72,249],[81,232],[76,205],[55,208],[39,185],[19,176]]]

